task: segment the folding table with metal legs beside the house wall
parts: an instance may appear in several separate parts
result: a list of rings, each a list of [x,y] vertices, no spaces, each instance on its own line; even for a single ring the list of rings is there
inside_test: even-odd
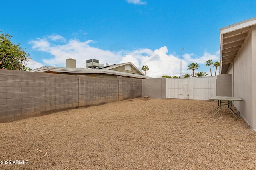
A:
[[[213,117],[220,111],[221,107],[227,107],[230,112],[236,117],[234,110],[232,110],[232,101],[243,101],[241,98],[239,97],[228,97],[228,96],[211,96],[209,98],[209,100],[218,100],[218,106],[215,110],[216,113],[213,115]],[[238,118],[236,117],[236,119],[238,120]]]

